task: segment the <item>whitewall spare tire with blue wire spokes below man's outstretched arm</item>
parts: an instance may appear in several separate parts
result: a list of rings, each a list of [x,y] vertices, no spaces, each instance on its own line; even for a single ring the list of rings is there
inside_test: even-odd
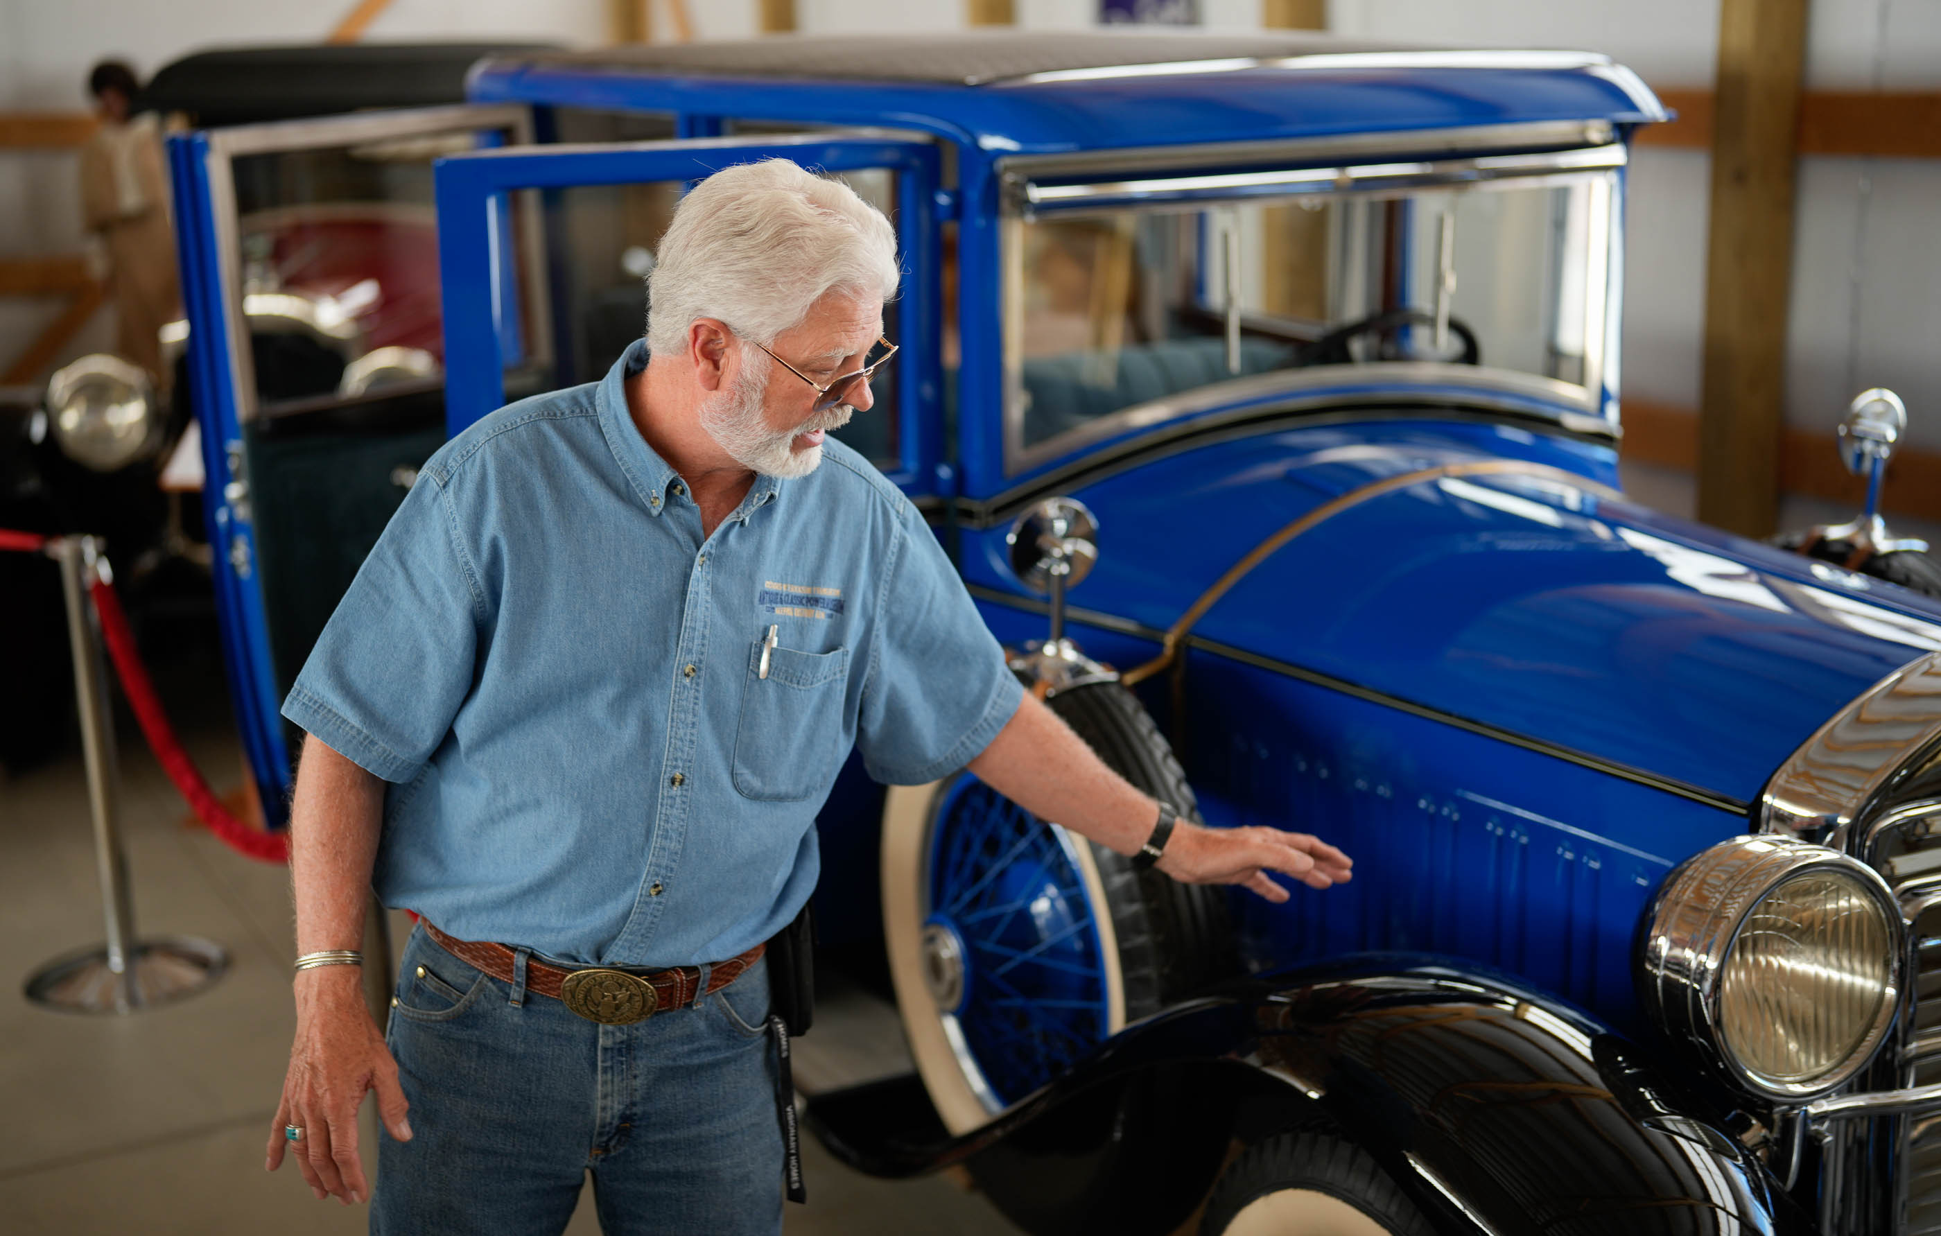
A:
[[[1182,819],[1198,819],[1186,774],[1130,691],[1083,683],[1048,695],[1046,704],[1108,768],[1172,803]],[[1219,889],[1135,871],[1126,856],[1040,821],[970,774],[891,786],[881,846],[883,945],[897,1011],[910,1059],[951,1133],[990,1123],[1128,1023],[1236,968]],[[980,1162],[994,1155],[986,1151]],[[1122,1166],[1124,1182],[1112,1176],[1118,1168],[1106,1172],[1114,1189],[1149,1189],[1143,1158]],[[1089,1189],[1073,1176],[1027,1209],[1042,1203],[1064,1215],[1069,1203],[1071,1215],[1085,1215]],[[1085,1222],[1052,1230],[1077,1226]]]

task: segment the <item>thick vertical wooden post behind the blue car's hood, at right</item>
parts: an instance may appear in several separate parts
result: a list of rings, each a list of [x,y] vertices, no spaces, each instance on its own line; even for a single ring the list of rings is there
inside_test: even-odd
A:
[[[1698,518],[1743,536],[1772,532],[1780,510],[1805,43],[1807,0],[1722,0]]]

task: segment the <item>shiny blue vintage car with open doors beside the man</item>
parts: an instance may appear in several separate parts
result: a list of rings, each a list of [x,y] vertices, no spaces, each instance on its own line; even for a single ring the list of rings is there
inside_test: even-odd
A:
[[[1826,563],[1623,497],[1630,72],[998,33],[509,54],[470,99],[173,146],[272,809],[417,464],[604,373],[685,182],[798,159],[899,227],[905,351],[844,437],[1015,669],[1207,825],[1359,860],[1269,906],[852,766],[823,933],[885,941],[918,1075],[819,1096],[839,1155],[963,1162],[1035,1232],[1941,1226],[1941,603],[1844,565],[1908,565],[1871,524]],[[443,338],[365,359],[402,276],[303,293],[344,342],[305,392],[243,301],[326,225],[435,225]],[[1850,429],[1877,468],[1894,407]]]

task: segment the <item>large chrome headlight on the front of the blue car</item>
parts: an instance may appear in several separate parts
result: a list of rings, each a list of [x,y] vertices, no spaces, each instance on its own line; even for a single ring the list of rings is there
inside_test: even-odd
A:
[[[1679,865],[1648,914],[1646,1007],[1764,1098],[1832,1090],[1894,1021],[1900,908],[1858,860],[1790,836],[1735,836]]]

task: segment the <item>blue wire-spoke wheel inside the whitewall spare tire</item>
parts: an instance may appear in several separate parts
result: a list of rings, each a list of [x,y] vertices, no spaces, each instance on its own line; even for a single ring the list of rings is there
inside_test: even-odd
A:
[[[969,774],[928,842],[926,982],[967,1081],[1002,1112],[1124,1023],[1099,873],[1089,842]]]

